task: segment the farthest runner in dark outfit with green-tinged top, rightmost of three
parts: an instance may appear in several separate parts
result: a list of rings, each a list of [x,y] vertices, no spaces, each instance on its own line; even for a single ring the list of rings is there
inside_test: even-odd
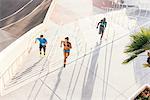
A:
[[[101,38],[100,40],[102,40],[103,35],[104,35],[104,30],[106,28],[107,22],[106,22],[106,18],[102,19],[98,24],[97,24],[97,28],[99,27],[99,34],[101,34]]]

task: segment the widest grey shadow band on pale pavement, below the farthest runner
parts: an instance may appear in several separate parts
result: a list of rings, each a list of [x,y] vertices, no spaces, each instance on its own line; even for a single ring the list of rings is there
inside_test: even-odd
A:
[[[98,45],[96,45],[95,48],[97,46]],[[86,83],[83,83],[81,100],[91,100],[93,88],[94,88],[94,84],[95,84],[96,73],[97,73],[97,69],[98,69],[97,60],[99,58],[99,53],[100,53],[100,46],[98,47],[97,50],[95,50],[93,52],[87,81],[86,81]],[[85,72],[85,77],[86,77],[86,74],[87,74],[87,72]],[[85,82],[85,80],[84,80],[84,82]]]

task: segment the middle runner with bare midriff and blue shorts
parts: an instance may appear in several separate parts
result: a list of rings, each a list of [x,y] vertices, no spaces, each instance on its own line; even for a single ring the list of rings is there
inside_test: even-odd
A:
[[[69,37],[65,38],[65,41],[61,41],[60,47],[64,45],[64,68],[66,66],[66,60],[70,55],[70,49],[72,49],[71,43],[69,42]]]

